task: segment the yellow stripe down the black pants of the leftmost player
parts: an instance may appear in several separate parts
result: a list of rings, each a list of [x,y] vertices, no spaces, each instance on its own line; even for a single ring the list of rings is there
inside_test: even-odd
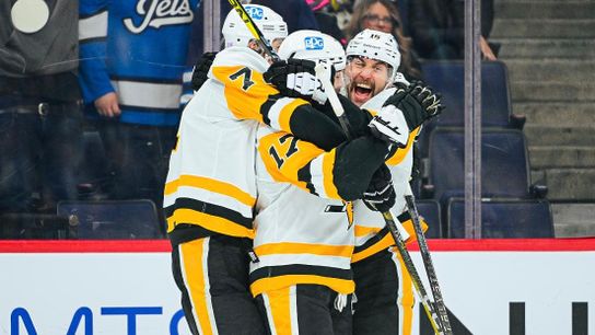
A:
[[[180,244],[180,256],[184,259],[184,273],[186,275],[186,288],[190,296],[190,302],[197,319],[197,325],[201,334],[213,334],[211,320],[214,320],[210,305],[209,278],[206,277],[205,244],[209,239],[199,239]]]

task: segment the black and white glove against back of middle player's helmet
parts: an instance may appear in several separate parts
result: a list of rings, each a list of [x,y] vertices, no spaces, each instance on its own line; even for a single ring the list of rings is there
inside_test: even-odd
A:
[[[262,74],[282,95],[302,97],[325,104],[327,96],[320,81],[316,78],[312,60],[290,58],[273,62]]]

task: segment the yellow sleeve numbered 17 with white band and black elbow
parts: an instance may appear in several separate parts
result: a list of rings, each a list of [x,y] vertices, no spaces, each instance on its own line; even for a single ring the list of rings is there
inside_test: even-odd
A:
[[[276,182],[346,201],[361,198],[387,151],[373,137],[360,137],[329,151],[282,131],[271,130],[258,140],[258,153]]]

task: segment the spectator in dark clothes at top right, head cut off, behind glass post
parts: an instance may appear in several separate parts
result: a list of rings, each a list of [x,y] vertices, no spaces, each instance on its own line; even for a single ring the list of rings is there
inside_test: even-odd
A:
[[[409,5],[413,47],[422,58],[465,58],[465,1],[416,0]],[[488,43],[492,24],[493,0],[481,0],[479,48],[487,60],[495,60],[498,53],[498,48]]]

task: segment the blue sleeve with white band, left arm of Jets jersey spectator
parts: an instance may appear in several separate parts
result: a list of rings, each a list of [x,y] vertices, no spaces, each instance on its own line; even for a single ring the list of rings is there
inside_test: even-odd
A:
[[[114,92],[107,67],[107,0],[81,0],[79,5],[79,82],[85,103]]]

